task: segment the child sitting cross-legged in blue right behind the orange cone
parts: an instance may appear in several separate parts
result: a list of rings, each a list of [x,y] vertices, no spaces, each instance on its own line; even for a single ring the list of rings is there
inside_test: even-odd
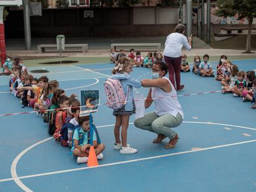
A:
[[[95,149],[95,153],[97,159],[103,159],[103,150],[105,149],[105,145],[100,143],[100,137],[98,136],[98,132],[96,131],[95,126],[90,127],[90,117],[79,117],[79,127],[77,127],[74,131],[73,135],[73,146],[72,151],[74,157],[77,157],[77,164],[86,163],[88,160],[88,155],[90,151],[90,140],[93,140],[93,147]],[[90,128],[93,128],[93,136],[90,136]]]

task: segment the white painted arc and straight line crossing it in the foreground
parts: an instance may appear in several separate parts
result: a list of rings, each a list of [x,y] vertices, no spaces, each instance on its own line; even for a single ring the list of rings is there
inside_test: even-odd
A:
[[[226,125],[226,126],[230,126],[230,127],[239,127],[239,128],[250,129],[250,130],[256,130],[255,128],[249,128],[249,127],[244,127],[244,126],[239,126],[239,125],[228,125],[228,124],[212,123],[212,122],[184,122],[184,123],[203,123],[203,124],[211,124],[211,125]],[[133,123],[129,123],[129,124],[133,124]],[[100,128],[100,127],[111,127],[111,126],[113,127],[114,124],[112,124],[112,125],[101,125],[101,126],[98,126],[98,128]],[[7,182],[7,181],[10,181],[10,180],[14,180],[14,182],[17,183],[17,185],[20,186],[20,188],[22,188],[23,190],[31,191],[29,188],[27,188],[27,186],[25,186],[20,181],[20,179],[22,179],[22,178],[31,178],[31,177],[40,177],[40,176],[44,176],[44,175],[53,175],[53,174],[65,173],[65,172],[73,172],[73,171],[76,171],[76,170],[106,167],[106,166],[110,166],[110,165],[126,164],[126,163],[130,163],[130,162],[145,161],[145,160],[149,160],[149,159],[156,159],[156,158],[168,157],[168,156],[176,156],[176,155],[179,155],[179,154],[187,154],[187,153],[197,152],[197,151],[206,151],[206,150],[210,150],[210,149],[224,148],[224,147],[227,147],[227,146],[236,146],[238,144],[252,143],[252,142],[256,141],[256,140],[242,141],[242,142],[238,142],[238,143],[223,144],[223,145],[220,145],[220,146],[212,146],[212,147],[209,147],[209,148],[200,148],[200,149],[195,149],[195,150],[190,150],[190,151],[182,151],[182,152],[175,152],[175,153],[171,153],[171,154],[164,154],[164,155],[160,155],[160,156],[145,157],[145,158],[133,159],[133,160],[129,160],[129,161],[114,162],[114,163],[99,165],[98,167],[83,167],[83,168],[78,168],[78,169],[61,170],[61,171],[56,171],[56,172],[40,173],[40,174],[35,174],[35,175],[27,175],[27,176],[18,177],[17,172],[16,172],[16,167],[17,167],[17,163],[19,162],[19,159],[26,152],[28,152],[30,149],[34,148],[38,144],[44,143],[45,141],[48,141],[48,140],[51,140],[51,139],[52,139],[52,137],[51,138],[46,138],[45,140],[42,140],[42,141],[38,141],[38,143],[35,143],[32,146],[30,146],[27,149],[24,149],[22,152],[20,152],[20,154],[17,157],[15,157],[15,159],[12,162],[12,165],[11,165],[12,178],[2,179],[2,180],[0,180],[0,182]]]

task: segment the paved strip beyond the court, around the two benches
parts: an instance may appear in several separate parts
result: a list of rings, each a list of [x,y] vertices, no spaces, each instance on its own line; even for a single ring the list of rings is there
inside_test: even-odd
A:
[[[166,36],[143,36],[143,37],[120,37],[120,38],[66,38],[67,44],[75,43],[88,43],[89,51],[82,52],[64,52],[64,57],[107,57],[109,56],[111,43],[161,43],[161,49],[164,49],[164,42]],[[12,57],[25,57],[29,58],[46,58],[59,56],[58,52],[46,52],[38,53],[38,44],[56,44],[55,38],[35,38],[32,39],[32,50],[25,50],[25,43],[22,39],[9,39],[6,40],[7,54]],[[208,49],[207,51],[205,49]],[[221,54],[227,54],[228,56],[256,56],[256,54],[242,54],[244,50],[233,49],[213,49],[207,43],[194,37],[192,51],[183,51],[187,56],[195,56],[196,54],[210,54],[211,56],[220,56]],[[146,53],[143,53],[145,55]]]

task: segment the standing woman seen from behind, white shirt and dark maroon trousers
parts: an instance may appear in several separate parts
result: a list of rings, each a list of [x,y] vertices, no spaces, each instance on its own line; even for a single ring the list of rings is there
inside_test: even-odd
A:
[[[171,80],[177,91],[184,88],[184,85],[181,85],[181,48],[184,46],[190,51],[192,46],[192,35],[189,36],[189,41],[187,41],[187,37],[184,36],[185,31],[185,25],[178,24],[174,28],[174,33],[167,36],[163,51],[164,61],[168,65],[169,80]]]

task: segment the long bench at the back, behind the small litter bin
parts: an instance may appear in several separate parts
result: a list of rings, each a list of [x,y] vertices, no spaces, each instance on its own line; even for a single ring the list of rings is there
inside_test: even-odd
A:
[[[88,44],[65,44],[65,50],[63,51],[72,51],[72,49],[67,49],[66,48],[81,48],[82,52],[87,52],[88,51]],[[38,52],[46,52],[46,49],[48,50],[57,50],[57,45],[56,44],[38,44],[37,46],[37,51]]]

